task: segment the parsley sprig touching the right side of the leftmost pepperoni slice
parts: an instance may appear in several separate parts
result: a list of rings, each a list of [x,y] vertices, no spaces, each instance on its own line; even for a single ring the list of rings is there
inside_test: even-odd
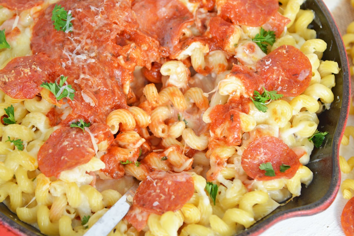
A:
[[[63,98],[69,98],[70,100],[74,99],[75,89],[71,87],[71,85],[67,84],[66,80],[68,76],[60,76],[59,84],[43,82],[40,86],[42,88],[48,89],[52,94],[54,94],[55,98],[59,101]],[[65,85],[64,85],[65,84]]]

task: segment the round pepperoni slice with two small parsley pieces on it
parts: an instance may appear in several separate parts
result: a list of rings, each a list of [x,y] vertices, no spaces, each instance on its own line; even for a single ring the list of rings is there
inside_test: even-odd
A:
[[[266,176],[259,169],[262,163],[272,163],[275,176]],[[285,172],[280,171],[281,165],[289,165]],[[248,176],[256,180],[270,180],[293,177],[300,166],[299,158],[287,144],[273,136],[263,136],[253,140],[242,153],[241,166]]]

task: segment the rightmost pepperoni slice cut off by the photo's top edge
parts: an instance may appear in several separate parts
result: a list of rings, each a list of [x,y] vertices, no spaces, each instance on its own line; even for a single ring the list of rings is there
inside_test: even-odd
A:
[[[247,26],[265,24],[279,9],[277,0],[231,0],[222,1],[218,6],[219,15],[233,23]]]

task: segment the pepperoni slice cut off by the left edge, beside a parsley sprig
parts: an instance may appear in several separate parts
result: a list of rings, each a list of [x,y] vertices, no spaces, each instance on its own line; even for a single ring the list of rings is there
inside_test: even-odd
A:
[[[0,89],[11,98],[32,99],[45,81],[52,81],[58,66],[45,54],[16,57],[0,70]]]

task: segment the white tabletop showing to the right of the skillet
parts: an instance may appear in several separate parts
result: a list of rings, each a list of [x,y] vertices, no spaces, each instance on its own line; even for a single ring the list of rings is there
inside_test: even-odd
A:
[[[354,9],[350,0],[324,0],[331,11],[341,34],[346,33],[346,28],[354,20]],[[354,116],[350,116],[347,125],[354,125]],[[339,154],[346,159],[354,153],[354,140],[350,137],[348,146],[341,146]],[[342,173],[342,181],[346,178],[354,178],[354,171],[348,175]],[[336,199],[325,211],[313,216],[295,217],[283,220],[271,226],[260,236],[344,236],[341,229],[341,213],[347,200],[338,191]]]

